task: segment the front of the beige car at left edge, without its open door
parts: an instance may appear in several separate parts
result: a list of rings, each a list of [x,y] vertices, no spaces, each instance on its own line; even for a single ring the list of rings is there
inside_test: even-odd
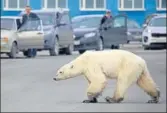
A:
[[[21,18],[16,16],[1,16],[1,54],[15,58],[18,51],[16,32],[21,24]]]

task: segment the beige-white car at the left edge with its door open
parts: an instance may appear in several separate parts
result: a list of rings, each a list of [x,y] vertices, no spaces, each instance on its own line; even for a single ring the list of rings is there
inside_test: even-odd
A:
[[[1,54],[16,58],[23,52],[26,57],[30,49],[41,49],[44,45],[42,20],[29,20],[21,25],[21,17],[1,16]],[[36,55],[35,55],[36,56]]]

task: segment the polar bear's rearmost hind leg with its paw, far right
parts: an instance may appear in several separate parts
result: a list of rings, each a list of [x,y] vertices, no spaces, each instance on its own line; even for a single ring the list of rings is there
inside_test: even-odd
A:
[[[153,79],[149,75],[149,73],[144,73],[137,80],[137,84],[140,88],[142,88],[148,95],[151,96],[151,100],[148,103],[158,103],[160,97],[160,91],[156,88],[156,84]]]

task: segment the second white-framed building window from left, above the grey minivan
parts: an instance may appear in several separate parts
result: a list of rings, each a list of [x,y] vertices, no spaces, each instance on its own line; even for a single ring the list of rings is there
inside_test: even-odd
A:
[[[68,8],[68,0],[42,0],[43,9]]]

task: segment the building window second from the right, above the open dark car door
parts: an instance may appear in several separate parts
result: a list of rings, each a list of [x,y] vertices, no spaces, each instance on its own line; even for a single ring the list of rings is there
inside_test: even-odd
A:
[[[119,10],[144,10],[144,0],[119,0]]]

